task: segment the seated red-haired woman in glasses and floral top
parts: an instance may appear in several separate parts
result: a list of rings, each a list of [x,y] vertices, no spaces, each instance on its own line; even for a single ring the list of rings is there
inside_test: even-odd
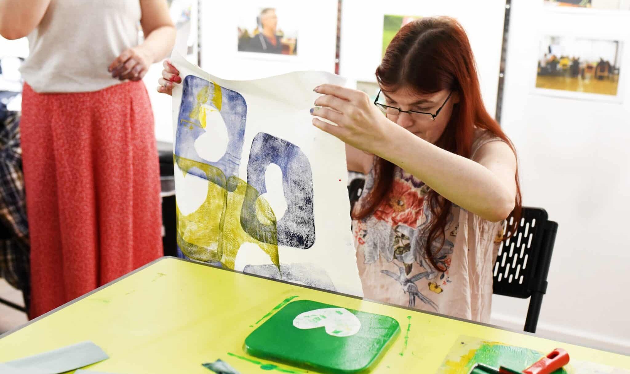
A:
[[[466,32],[451,18],[413,21],[376,77],[374,103],[321,85],[311,109],[338,124],[313,119],[358,148],[348,165],[368,174],[352,212],[365,297],[488,321],[502,221],[520,207],[520,190],[514,148],[483,106]]]

